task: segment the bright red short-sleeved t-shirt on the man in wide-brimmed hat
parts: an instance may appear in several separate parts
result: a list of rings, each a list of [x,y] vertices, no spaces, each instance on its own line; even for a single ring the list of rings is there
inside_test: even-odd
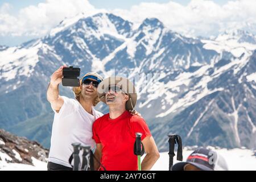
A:
[[[133,153],[138,132],[142,133],[142,140],[151,136],[144,119],[131,115],[129,111],[115,119],[110,119],[109,114],[96,119],[93,123],[93,139],[102,144],[101,164],[107,171],[138,170],[138,158]]]

